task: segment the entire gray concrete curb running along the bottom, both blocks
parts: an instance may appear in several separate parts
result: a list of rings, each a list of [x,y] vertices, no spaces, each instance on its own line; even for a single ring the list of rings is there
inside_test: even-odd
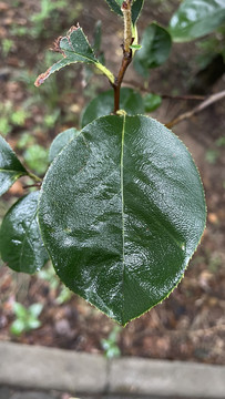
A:
[[[225,398],[225,366],[121,358],[0,342],[0,385],[75,396]]]

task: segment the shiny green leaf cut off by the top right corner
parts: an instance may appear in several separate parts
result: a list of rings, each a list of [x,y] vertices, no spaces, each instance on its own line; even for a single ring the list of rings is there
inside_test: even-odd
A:
[[[184,0],[170,22],[173,41],[187,42],[225,23],[224,0]]]

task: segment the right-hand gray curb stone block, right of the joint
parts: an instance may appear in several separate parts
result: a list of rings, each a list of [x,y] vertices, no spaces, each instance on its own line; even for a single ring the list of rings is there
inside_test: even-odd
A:
[[[225,399],[225,367],[122,358],[112,362],[110,392]]]

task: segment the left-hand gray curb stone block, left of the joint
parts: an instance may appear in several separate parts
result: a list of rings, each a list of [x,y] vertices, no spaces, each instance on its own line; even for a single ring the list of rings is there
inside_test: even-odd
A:
[[[32,389],[102,392],[106,360],[38,346],[0,342],[0,383]]]

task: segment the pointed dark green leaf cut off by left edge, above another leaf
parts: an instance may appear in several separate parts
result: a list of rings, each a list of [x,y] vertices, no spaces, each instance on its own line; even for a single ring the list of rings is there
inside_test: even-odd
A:
[[[0,136],[0,195],[6,193],[11,185],[28,172],[18,160],[6,140]]]

